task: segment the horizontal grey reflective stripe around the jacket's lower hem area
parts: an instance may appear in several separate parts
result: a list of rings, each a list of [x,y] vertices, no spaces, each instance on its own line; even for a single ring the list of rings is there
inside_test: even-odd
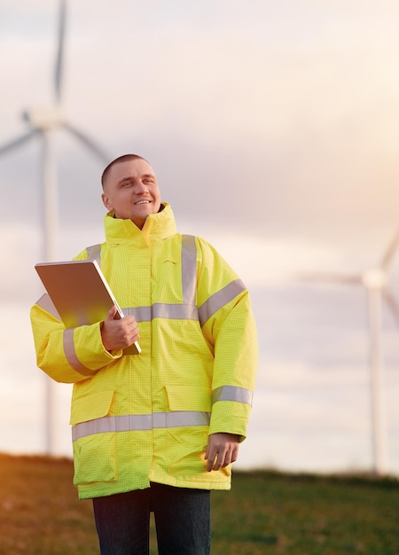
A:
[[[155,428],[175,428],[182,426],[209,426],[210,412],[197,410],[176,410],[174,412],[153,412],[153,414],[129,414],[96,418],[81,422],[72,428],[72,441],[93,434],[109,432],[133,432]]]

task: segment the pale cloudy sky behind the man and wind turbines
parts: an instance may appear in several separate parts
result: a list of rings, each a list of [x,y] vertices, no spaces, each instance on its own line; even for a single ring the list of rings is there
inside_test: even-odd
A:
[[[54,106],[59,3],[0,0],[0,148],[24,110]],[[150,160],[181,232],[206,238],[254,305],[260,364],[237,466],[372,467],[367,295],[361,276],[399,228],[395,2],[67,2],[60,108],[107,152]],[[6,78],[5,78],[6,77]],[[104,164],[65,131],[56,259],[103,240]],[[0,155],[0,451],[43,452],[47,380],[30,306],[42,293],[41,143]],[[399,252],[388,269],[399,301]],[[381,324],[385,463],[399,473],[399,327]],[[52,388],[54,451],[69,455],[71,387]]]

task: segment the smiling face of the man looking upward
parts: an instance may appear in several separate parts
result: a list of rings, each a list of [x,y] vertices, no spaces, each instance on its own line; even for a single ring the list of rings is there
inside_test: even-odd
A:
[[[114,164],[102,199],[116,218],[131,220],[141,230],[148,215],[160,209],[160,190],[150,164],[137,158]]]

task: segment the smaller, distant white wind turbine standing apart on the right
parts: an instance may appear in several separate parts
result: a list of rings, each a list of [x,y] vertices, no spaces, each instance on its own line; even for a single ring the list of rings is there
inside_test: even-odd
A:
[[[397,324],[399,324],[399,304],[388,287],[388,270],[399,247],[399,230],[387,246],[379,264],[358,275],[311,274],[305,279],[320,283],[340,283],[364,286],[368,299],[369,312],[369,363],[371,387],[371,425],[372,425],[372,472],[376,475],[386,473],[386,417],[384,407],[384,373],[381,342],[382,301],[387,303]]]

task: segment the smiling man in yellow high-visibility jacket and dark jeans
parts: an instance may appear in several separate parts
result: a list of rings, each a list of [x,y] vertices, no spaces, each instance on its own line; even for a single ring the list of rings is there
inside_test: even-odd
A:
[[[210,552],[210,490],[230,489],[257,364],[245,285],[202,238],[176,232],[153,168],[113,160],[102,176],[96,258],[123,313],[65,329],[43,295],[31,310],[37,364],[74,383],[74,484],[92,498],[101,553]],[[141,353],[130,355],[139,340]]]

